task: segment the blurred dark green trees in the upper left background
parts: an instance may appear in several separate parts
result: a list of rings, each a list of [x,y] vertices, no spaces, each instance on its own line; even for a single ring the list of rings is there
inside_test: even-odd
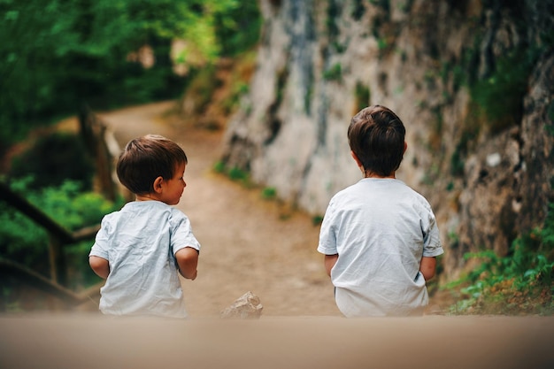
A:
[[[221,25],[230,24],[238,5],[236,0],[0,1],[0,152],[31,126],[73,114],[84,102],[104,109],[176,96],[183,81],[172,70],[173,39],[187,42],[181,63],[210,63],[221,50],[216,28],[223,32]],[[133,61],[144,45],[155,58],[151,67]]]

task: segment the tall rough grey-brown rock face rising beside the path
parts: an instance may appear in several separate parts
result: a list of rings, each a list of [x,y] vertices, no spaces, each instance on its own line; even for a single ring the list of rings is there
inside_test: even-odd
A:
[[[360,179],[350,118],[404,121],[397,177],[429,199],[455,277],[463,255],[504,254],[554,202],[554,1],[262,0],[250,93],[223,161],[322,215]]]

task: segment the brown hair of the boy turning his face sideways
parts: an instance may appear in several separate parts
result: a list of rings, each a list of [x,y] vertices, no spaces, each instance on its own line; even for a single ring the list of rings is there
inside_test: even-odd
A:
[[[169,181],[177,167],[187,164],[185,151],[161,135],[145,135],[127,143],[119,156],[116,171],[119,181],[135,195],[154,191],[158,177]]]

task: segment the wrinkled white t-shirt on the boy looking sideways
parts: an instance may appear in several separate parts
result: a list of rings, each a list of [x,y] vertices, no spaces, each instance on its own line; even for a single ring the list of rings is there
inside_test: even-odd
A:
[[[108,214],[89,256],[110,262],[100,311],[110,315],[186,318],[176,259],[200,250],[182,211],[158,201],[135,201]]]

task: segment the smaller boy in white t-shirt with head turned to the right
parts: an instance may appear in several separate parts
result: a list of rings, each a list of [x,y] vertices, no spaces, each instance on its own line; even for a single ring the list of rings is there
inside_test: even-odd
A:
[[[102,219],[88,262],[106,279],[100,311],[108,315],[186,318],[178,272],[196,279],[200,244],[179,204],[188,163],[181,147],[159,135],[127,143],[119,181],[135,194]]]

